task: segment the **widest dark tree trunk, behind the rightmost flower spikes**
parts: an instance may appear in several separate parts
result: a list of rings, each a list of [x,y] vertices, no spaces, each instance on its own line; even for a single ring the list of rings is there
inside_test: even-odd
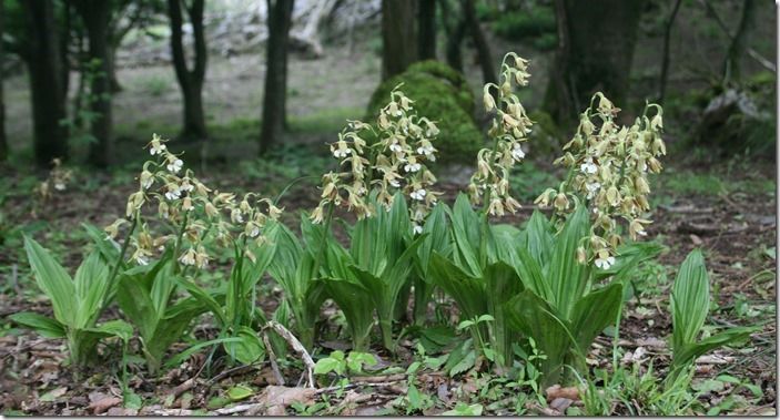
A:
[[[598,91],[620,106],[645,0],[556,0],[555,6],[559,48],[544,109],[568,124]]]

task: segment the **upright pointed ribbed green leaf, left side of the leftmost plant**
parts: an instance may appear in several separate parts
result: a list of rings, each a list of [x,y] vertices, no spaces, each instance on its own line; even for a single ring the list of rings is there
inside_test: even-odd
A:
[[[38,287],[51,299],[54,318],[69,327],[75,326],[78,300],[73,280],[49,252],[34,239],[24,236],[24,249]]]

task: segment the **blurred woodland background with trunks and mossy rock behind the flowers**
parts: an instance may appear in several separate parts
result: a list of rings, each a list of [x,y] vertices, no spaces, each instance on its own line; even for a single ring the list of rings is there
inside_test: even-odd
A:
[[[661,103],[667,141],[685,151],[671,161],[774,160],[769,0],[0,4],[6,171],[55,157],[121,168],[159,133],[202,167],[316,174],[310,157],[326,156],[345,120],[371,119],[401,82],[439,122],[444,161],[472,165],[487,121],[482,84],[507,51],[531,63],[521,96],[537,123],[531,156],[559,151],[600,90],[629,121]]]

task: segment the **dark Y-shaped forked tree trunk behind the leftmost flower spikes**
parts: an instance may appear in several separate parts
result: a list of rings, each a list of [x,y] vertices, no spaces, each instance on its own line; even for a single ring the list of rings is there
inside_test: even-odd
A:
[[[171,22],[171,54],[173,69],[179,80],[184,98],[184,125],[180,139],[186,141],[205,141],[209,137],[203,112],[203,81],[206,70],[206,43],[203,32],[204,0],[193,0],[188,8],[195,39],[194,66],[189,70],[182,42],[182,10],[181,0],[168,0],[168,13]]]

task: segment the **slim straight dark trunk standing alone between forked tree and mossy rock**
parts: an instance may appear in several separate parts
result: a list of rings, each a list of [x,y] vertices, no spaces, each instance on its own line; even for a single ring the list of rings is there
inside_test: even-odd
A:
[[[260,154],[282,136],[287,99],[287,44],[293,18],[293,0],[267,0],[269,42],[266,47],[265,94],[260,132]]]

